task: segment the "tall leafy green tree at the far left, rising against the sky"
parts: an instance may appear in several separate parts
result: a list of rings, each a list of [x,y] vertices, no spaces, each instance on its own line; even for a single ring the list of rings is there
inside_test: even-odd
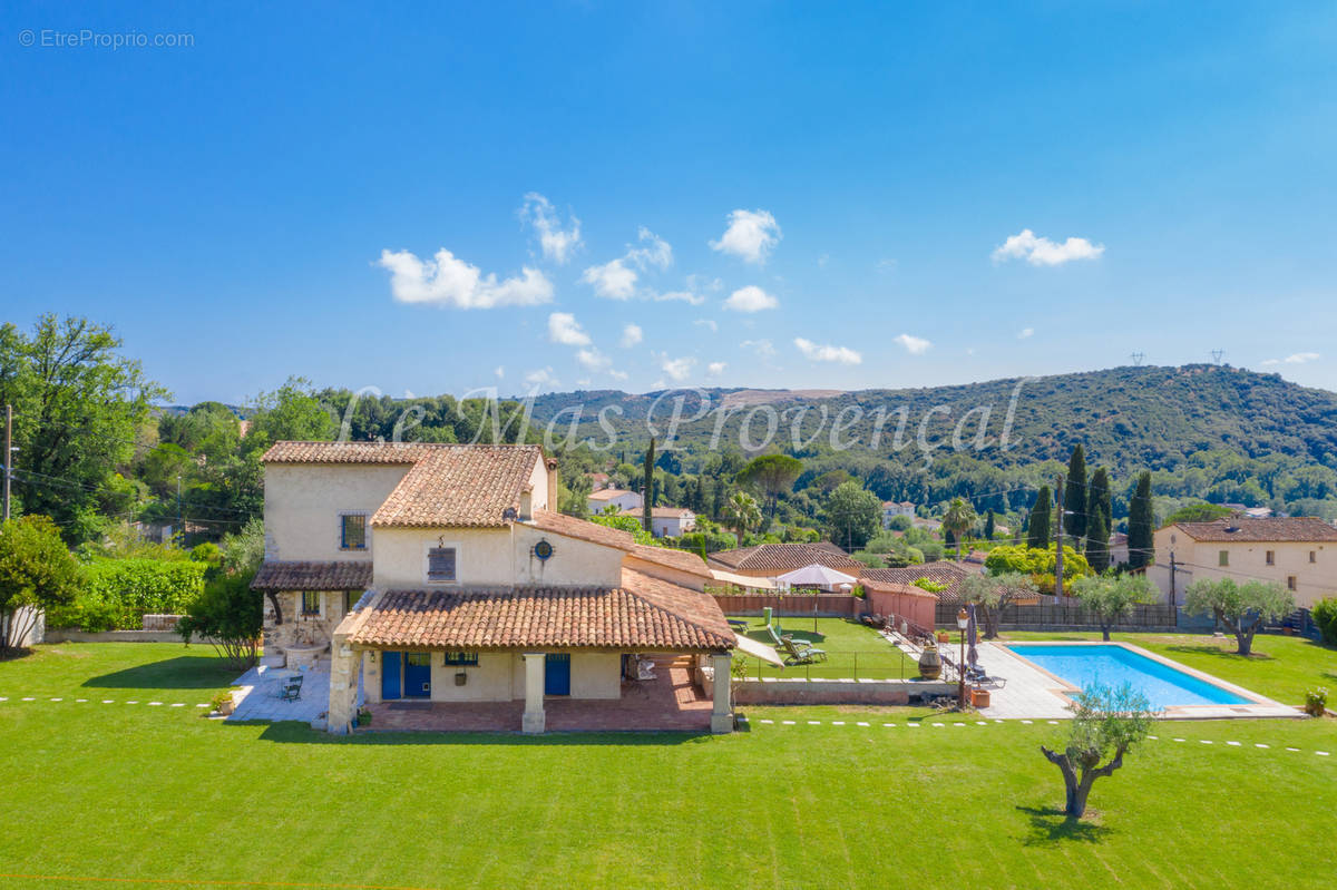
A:
[[[103,513],[132,508],[116,469],[168,396],[122,345],[87,318],[43,315],[31,335],[0,326],[0,404],[13,405],[19,449],[15,500],[24,513],[49,516],[70,544],[96,537]]]

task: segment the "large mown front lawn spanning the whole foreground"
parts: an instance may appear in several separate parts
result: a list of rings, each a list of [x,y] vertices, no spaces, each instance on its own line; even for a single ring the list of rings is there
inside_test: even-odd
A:
[[[194,659],[206,653],[60,645],[0,663],[0,886],[1330,883],[1337,720],[1158,724],[1072,823],[1038,751],[1062,730],[1047,724],[910,730],[923,710],[750,708],[750,731],[714,738],[336,739],[74,702],[207,700],[229,678]]]

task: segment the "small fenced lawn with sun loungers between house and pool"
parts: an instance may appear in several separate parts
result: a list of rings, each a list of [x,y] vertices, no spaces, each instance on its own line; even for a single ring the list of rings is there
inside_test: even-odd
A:
[[[759,617],[742,617],[749,623],[747,636],[771,645],[770,635]],[[919,664],[905,657],[900,649],[882,639],[877,631],[858,621],[845,619],[817,619],[813,631],[810,617],[783,617],[781,629],[793,635],[794,640],[809,640],[826,652],[826,661],[778,668],[758,659],[745,656],[747,676],[778,678],[913,678],[919,676]],[[783,657],[785,652],[779,651]]]

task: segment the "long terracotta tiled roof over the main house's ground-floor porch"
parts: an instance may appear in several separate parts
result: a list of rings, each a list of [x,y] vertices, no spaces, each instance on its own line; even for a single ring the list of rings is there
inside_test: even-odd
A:
[[[734,633],[714,599],[624,571],[600,587],[386,591],[352,628],[354,645],[718,652]]]

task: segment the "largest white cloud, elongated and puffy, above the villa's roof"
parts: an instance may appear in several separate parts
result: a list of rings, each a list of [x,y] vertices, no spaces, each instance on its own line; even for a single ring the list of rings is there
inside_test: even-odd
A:
[[[390,293],[401,303],[432,303],[456,309],[535,306],[552,301],[552,282],[537,269],[524,267],[520,278],[497,281],[484,275],[443,247],[432,259],[408,250],[382,250],[376,262],[390,273]]]

